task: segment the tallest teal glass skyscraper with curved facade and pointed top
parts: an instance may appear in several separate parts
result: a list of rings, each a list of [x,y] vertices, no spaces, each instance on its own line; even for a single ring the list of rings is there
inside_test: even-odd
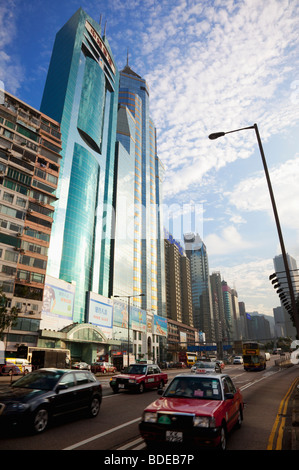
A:
[[[62,164],[47,273],[109,296],[119,74],[101,26],[81,8],[57,33],[41,110],[61,123]]]

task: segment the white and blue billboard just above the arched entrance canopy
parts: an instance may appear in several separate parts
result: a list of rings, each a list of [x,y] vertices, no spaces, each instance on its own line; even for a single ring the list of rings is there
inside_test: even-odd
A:
[[[88,292],[86,322],[98,326],[107,338],[112,339],[113,300]]]

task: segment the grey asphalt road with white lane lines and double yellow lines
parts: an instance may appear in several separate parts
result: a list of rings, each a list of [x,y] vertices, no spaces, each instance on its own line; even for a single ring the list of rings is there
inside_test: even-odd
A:
[[[169,379],[188,370],[169,370]],[[244,422],[228,440],[229,450],[291,448],[288,391],[298,377],[298,366],[279,369],[272,358],[263,372],[245,372],[240,365],[225,368],[245,401]],[[110,391],[109,378],[101,377],[103,402],[97,418],[56,420],[38,436],[11,433],[0,435],[0,450],[143,450],[138,423],[143,409],[157,398],[156,391],[144,394]],[[79,419],[78,419],[79,418]]]

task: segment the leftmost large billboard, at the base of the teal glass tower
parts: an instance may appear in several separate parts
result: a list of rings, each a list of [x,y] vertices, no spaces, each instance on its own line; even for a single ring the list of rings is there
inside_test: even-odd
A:
[[[75,284],[46,276],[41,329],[59,330],[73,323]]]

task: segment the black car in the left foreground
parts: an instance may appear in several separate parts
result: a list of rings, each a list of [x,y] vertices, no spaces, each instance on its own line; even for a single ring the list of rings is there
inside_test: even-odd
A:
[[[49,419],[86,409],[96,417],[102,386],[87,370],[39,369],[0,390],[0,428],[24,424],[41,433]]]

